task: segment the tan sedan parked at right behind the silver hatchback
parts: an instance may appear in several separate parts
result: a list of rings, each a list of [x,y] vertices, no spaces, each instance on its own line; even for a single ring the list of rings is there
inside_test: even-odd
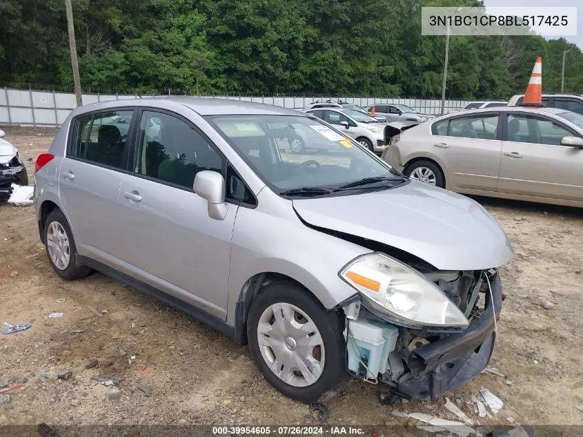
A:
[[[560,108],[451,113],[402,131],[382,158],[457,193],[583,206],[583,115]]]

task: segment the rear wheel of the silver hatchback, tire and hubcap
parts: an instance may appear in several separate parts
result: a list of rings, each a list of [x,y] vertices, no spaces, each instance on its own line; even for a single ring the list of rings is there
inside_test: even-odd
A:
[[[79,262],[77,247],[67,219],[60,209],[52,211],[44,225],[46,253],[52,269],[61,278],[85,278],[92,270]]]

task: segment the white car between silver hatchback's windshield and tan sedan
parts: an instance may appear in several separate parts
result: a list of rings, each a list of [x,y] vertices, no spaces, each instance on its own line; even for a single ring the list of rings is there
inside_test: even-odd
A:
[[[385,148],[384,128],[386,123],[361,113],[344,108],[317,108],[305,111],[353,137],[371,152],[382,153]]]

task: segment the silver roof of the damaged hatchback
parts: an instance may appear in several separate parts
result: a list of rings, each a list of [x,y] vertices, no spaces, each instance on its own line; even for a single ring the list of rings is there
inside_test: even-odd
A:
[[[255,101],[210,97],[150,97],[148,99],[101,101],[96,104],[80,106],[75,109],[75,115],[94,110],[119,108],[121,106],[155,107],[163,104],[163,102],[184,105],[199,113],[199,115],[299,115],[306,117],[306,114],[299,110],[284,108],[283,106],[262,104]]]

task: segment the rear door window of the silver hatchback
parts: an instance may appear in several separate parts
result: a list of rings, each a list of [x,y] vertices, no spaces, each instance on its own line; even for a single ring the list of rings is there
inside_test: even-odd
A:
[[[132,110],[117,110],[77,117],[70,156],[125,169],[132,116]]]

